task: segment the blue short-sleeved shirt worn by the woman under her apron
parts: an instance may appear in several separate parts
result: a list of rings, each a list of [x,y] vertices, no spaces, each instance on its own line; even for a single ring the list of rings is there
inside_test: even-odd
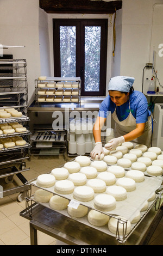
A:
[[[133,114],[133,117],[136,119],[136,124],[146,123],[149,115],[151,115],[151,112],[148,110],[146,96],[143,95],[143,93],[134,90],[134,92],[129,95],[129,100],[130,109],[129,101],[121,106],[117,106],[116,108],[116,104],[112,102],[110,96],[108,95],[99,107],[98,116],[106,118],[109,112],[112,114],[116,108],[116,114],[119,121],[125,120],[131,111],[131,114]]]

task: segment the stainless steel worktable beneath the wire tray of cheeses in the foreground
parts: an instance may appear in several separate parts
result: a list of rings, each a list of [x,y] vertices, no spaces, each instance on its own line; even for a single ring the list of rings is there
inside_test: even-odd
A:
[[[154,230],[161,220],[162,212],[163,205],[157,211],[153,206],[128,237],[125,245],[148,245]],[[22,211],[20,215],[30,220],[31,245],[37,245],[37,230],[68,245],[120,244],[113,236],[109,236],[102,231],[93,229],[37,203],[32,205],[32,215],[27,210]]]

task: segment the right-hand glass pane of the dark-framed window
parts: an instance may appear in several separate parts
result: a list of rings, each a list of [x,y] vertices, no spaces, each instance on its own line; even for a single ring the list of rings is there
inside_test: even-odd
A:
[[[101,27],[85,27],[86,92],[99,92]]]

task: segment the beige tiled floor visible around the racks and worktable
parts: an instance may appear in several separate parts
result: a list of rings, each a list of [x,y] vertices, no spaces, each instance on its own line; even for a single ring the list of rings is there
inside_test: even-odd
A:
[[[27,161],[27,166],[30,167],[28,172],[23,175],[27,180],[35,179],[38,175],[50,172],[53,168],[59,167],[65,163],[65,160],[60,157],[32,157],[31,161]],[[10,187],[22,185],[21,181],[15,175],[12,184],[5,184],[3,179],[0,179],[0,185],[4,190]],[[26,208],[25,202],[17,201],[17,194],[12,194],[4,198],[0,198],[0,245],[30,245],[29,221],[20,216],[20,212]],[[43,234],[38,233],[38,245],[55,245],[56,240]],[[57,244],[59,242],[57,241]],[[149,245],[163,245],[163,217],[155,230]]]

